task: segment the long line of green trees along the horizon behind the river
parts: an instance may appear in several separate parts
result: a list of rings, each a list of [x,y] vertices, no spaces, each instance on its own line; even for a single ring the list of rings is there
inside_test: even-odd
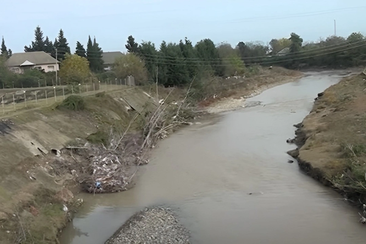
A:
[[[55,41],[44,37],[40,27],[34,31],[34,41],[25,52],[44,51],[61,61],[60,75],[70,82],[80,82],[86,76],[96,79],[124,78],[134,75],[137,83],[158,80],[164,86],[184,86],[196,77],[250,76],[260,65],[280,65],[287,68],[349,67],[365,64],[366,39],[361,33],[347,38],[330,36],[316,42],[304,42],[296,33],[290,37],[272,39],[268,44],[259,41],[215,44],[209,38],[193,44],[188,38],[176,42],[162,41],[156,46],[151,41],[135,41],[129,36],[127,53],[115,60],[112,71],[104,71],[102,49],[89,35],[86,49],[76,42],[71,55],[70,46],[61,29]],[[8,58],[11,50],[1,45],[1,56]],[[76,57],[77,56],[77,57]],[[0,82],[1,82],[0,74]]]

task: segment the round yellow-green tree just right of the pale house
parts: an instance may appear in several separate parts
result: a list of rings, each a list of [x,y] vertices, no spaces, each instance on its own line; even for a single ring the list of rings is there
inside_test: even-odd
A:
[[[89,61],[85,57],[66,53],[59,74],[68,83],[81,82],[90,74]]]

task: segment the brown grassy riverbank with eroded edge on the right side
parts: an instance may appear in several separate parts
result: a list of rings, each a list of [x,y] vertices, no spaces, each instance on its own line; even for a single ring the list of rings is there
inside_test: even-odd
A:
[[[310,114],[297,125],[298,149],[289,152],[307,174],[355,204],[366,200],[365,78],[343,78],[318,94]]]

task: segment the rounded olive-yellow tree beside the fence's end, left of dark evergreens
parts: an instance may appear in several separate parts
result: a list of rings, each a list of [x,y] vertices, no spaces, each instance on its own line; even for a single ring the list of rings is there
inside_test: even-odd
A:
[[[132,75],[137,85],[147,83],[148,72],[145,67],[145,62],[134,53],[127,53],[118,57],[113,64],[113,71],[117,78],[124,79],[127,75]]]

